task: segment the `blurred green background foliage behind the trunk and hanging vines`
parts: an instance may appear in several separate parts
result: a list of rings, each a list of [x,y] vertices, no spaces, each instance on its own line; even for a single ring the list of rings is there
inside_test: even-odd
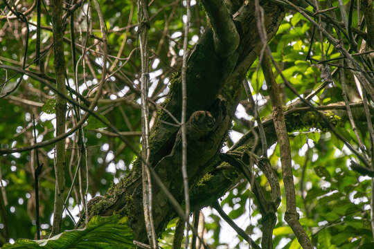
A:
[[[252,1],[254,2],[254,0],[249,2]],[[55,54],[53,53],[50,1],[41,1],[39,62],[37,62],[39,52],[37,51],[36,28],[38,1],[7,2],[8,6],[3,1],[0,3],[0,95],[6,95],[0,98],[0,149],[3,151],[35,145],[35,139],[36,142],[51,140],[55,137],[56,127],[56,93],[51,91],[46,84],[42,84],[43,80],[51,85],[55,84],[53,82]],[[140,150],[141,59],[136,2],[132,0],[99,0],[98,2],[106,26],[109,54],[106,67],[109,77],[103,86],[102,95],[94,111],[103,120],[121,131],[121,134],[131,142],[132,147]],[[236,4],[238,2],[243,1],[233,1]],[[371,144],[373,134],[368,129],[370,123],[368,123],[367,113],[362,104],[362,93],[357,91],[357,79],[355,82],[353,66],[349,64],[348,59],[339,59],[341,57],[339,48],[332,44],[326,35],[301,12],[285,6],[285,3],[280,3],[283,1],[271,2],[281,4],[284,12],[276,35],[269,37],[271,38],[269,41],[271,54],[281,68],[283,76],[304,98],[315,92],[310,98],[314,107],[322,111],[346,142],[370,163],[373,160],[373,144]],[[304,1],[292,2],[305,3]],[[366,2],[371,3],[371,12],[373,12],[372,1],[306,2],[308,2],[306,6],[303,5],[306,15],[321,24],[333,37],[339,39],[341,46],[349,50],[349,53],[362,53],[373,49],[372,45],[371,48],[368,45],[371,41],[370,28],[367,27],[370,21],[365,23],[361,20],[364,16],[362,5]],[[343,3],[341,8],[339,8],[339,2]],[[262,1],[260,3],[262,4]],[[318,6],[315,6],[316,3]],[[357,3],[360,4],[361,10],[357,9]],[[201,1],[192,0],[190,4],[188,50],[192,53],[195,44],[199,42],[202,34],[211,24],[207,21]],[[11,12],[9,6],[13,6],[15,11]],[[181,73],[184,53],[183,33],[186,22],[185,7],[186,1],[149,1],[150,22],[147,25],[150,27],[148,46],[151,127],[157,123],[157,116],[165,107],[165,104],[161,106],[161,103],[170,101],[168,93]],[[318,10],[329,8],[331,9],[323,14],[312,15]],[[341,15],[342,10],[346,17]],[[21,12],[24,12],[24,15],[19,15]],[[15,13],[18,14],[15,15]],[[72,22],[70,21],[71,15],[74,17]],[[78,91],[86,98],[86,101],[91,102],[94,100],[97,86],[103,76],[103,38],[98,12],[91,1],[66,1],[62,16],[63,19],[66,17],[64,19],[66,85]],[[348,20],[348,17],[349,24],[345,26],[344,21]],[[253,26],[253,30],[257,28]],[[366,46],[362,45],[363,37],[367,40]],[[72,46],[72,39],[75,41],[74,46]],[[371,42],[374,44],[374,41]],[[368,83],[373,86],[373,53],[355,56],[355,59],[357,63],[362,63],[362,70],[367,71],[368,77],[371,78]],[[206,59],[206,64],[209,64],[209,58]],[[285,86],[282,75],[276,71],[274,66],[273,71],[276,83],[281,86],[281,99],[290,138],[296,205],[301,225],[317,248],[373,248],[371,242],[373,241],[372,179],[355,172],[351,167],[352,164],[358,163],[362,165],[360,167],[367,169],[366,165],[344,145],[341,139],[335,136],[315,111],[306,107]],[[35,75],[43,80],[38,80]],[[240,100],[236,103],[237,107],[233,106],[236,112],[229,136],[222,145],[221,151],[224,152],[235,145],[244,134],[256,133],[256,136],[251,136],[256,137],[254,139],[256,145],[261,143],[260,135],[257,134],[256,110],[265,129],[271,126],[272,106],[269,88],[265,84],[265,76],[258,59],[250,65],[245,76],[250,83],[251,94],[256,105],[253,106],[248,100],[243,87],[238,89]],[[9,91],[12,93],[7,95]],[[203,98],[204,94],[201,91]],[[69,89],[67,96],[78,100]],[[364,98],[371,112],[369,119],[373,118],[371,96],[371,93],[368,93],[368,100]],[[80,103],[87,104],[82,100]],[[348,117],[346,104],[351,107],[353,115],[351,119]],[[77,110],[73,104],[67,103],[66,131],[78,123]],[[80,109],[80,113],[83,115],[86,112]],[[359,140],[357,140],[352,121],[355,122]],[[121,183],[121,179],[130,176],[136,159],[134,151],[118,138],[118,134],[108,129],[94,116],[89,116],[79,131],[82,131],[82,136],[78,135],[77,131],[64,139],[66,191],[62,198],[63,201],[67,198],[66,208],[69,212],[66,212],[64,208],[61,232],[74,229],[78,220],[84,217],[83,210],[86,207],[84,199],[89,200],[98,195],[104,196],[109,188],[113,190],[115,184]],[[300,248],[294,232],[284,219],[285,187],[282,180],[281,151],[274,138],[274,129],[266,133],[266,136],[268,142],[271,142],[267,150],[269,162],[276,172],[283,196],[277,210],[273,244],[274,247],[278,246],[276,248]],[[13,243],[19,238],[37,239],[35,216],[37,161],[39,165],[42,165],[38,174],[39,222],[42,238],[48,238],[51,232],[55,197],[54,147],[53,142],[37,149],[38,153],[35,149],[11,154],[1,153],[1,244],[7,241]],[[260,155],[258,150],[253,149],[253,152]],[[81,157],[84,157],[84,160]],[[269,190],[265,174],[257,166],[251,169],[264,190]],[[75,172],[78,172],[76,178]],[[74,178],[75,181],[73,181]],[[209,173],[205,174],[204,178],[209,178]],[[204,179],[200,182],[204,184]],[[67,196],[69,190],[71,190],[71,195]],[[235,175],[232,185],[224,192],[226,194],[220,198],[223,210],[254,241],[260,244],[263,217],[258,210],[258,203],[253,201],[255,196],[251,192],[247,179],[242,174]],[[202,198],[205,197],[202,196]],[[245,248],[247,241],[231,230],[209,203],[205,205],[207,207],[203,209],[203,212],[206,243],[211,248]],[[143,212],[141,206],[137,208]],[[170,218],[175,218],[175,215]],[[95,219],[99,218],[96,216]],[[116,223],[116,221],[113,222]],[[161,231],[162,235],[159,232],[159,241],[163,248],[171,248],[176,223],[176,219],[170,219],[168,226]],[[98,236],[101,236],[100,231],[105,232],[105,229],[99,230]],[[232,233],[233,236],[228,236],[228,233]],[[121,242],[121,239],[119,241]],[[147,241],[143,242],[147,243]]]

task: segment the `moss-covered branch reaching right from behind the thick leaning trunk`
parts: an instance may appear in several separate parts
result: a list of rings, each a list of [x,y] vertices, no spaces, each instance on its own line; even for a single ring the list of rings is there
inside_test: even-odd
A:
[[[350,104],[350,108],[353,110],[353,118],[355,120],[365,121],[365,113],[362,103]],[[340,104],[330,104],[325,107],[321,107],[325,114],[330,118],[330,122],[337,124],[338,122],[344,122],[348,120],[348,115],[346,113],[346,106],[344,103]],[[330,114],[329,114],[330,113]],[[322,122],[319,116],[314,115],[314,112],[310,107],[299,107],[288,111],[285,111],[285,122],[287,125],[287,131],[297,131],[299,129],[305,129],[308,124],[318,124],[318,127],[311,125],[310,127],[315,127],[321,129],[321,132],[326,131],[328,127],[325,122]],[[340,121],[339,121],[340,120]],[[274,145],[277,140],[276,132],[274,129],[274,122],[272,118],[267,118],[262,122],[262,125],[267,134],[267,145],[270,147]],[[310,128],[308,127],[308,128]],[[256,132],[257,128],[256,128]],[[246,149],[253,149],[256,154],[261,154],[261,145],[258,144],[256,148],[252,148],[253,145],[253,132],[248,131],[240,138],[238,142],[233,145],[229,151],[237,152]],[[200,181],[198,186],[193,187],[191,190],[191,205],[193,209],[203,208],[207,205],[211,205],[215,199],[222,196],[230,187],[238,183],[238,172],[235,167],[230,167],[228,163],[222,162],[222,160],[215,162],[215,169],[208,172],[203,181]],[[204,199],[202,199],[204,196]],[[209,198],[206,198],[209,196]]]

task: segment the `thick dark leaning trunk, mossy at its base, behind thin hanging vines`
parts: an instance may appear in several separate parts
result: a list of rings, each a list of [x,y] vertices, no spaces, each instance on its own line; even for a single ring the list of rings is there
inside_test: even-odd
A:
[[[266,3],[265,8],[267,10],[265,26],[267,33],[269,33],[268,37],[272,37],[281,23],[283,12],[281,8],[271,3]],[[186,117],[190,117],[196,111],[210,111],[215,118],[215,127],[211,133],[199,140],[190,138],[188,141],[187,169],[190,189],[198,185],[199,179],[206,172],[213,170],[212,162],[217,159],[217,152],[226,138],[229,127],[231,127],[231,120],[242,91],[242,80],[260,49],[258,33],[256,29],[251,28],[253,25],[255,25],[253,13],[248,13],[240,32],[240,36],[244,39],[240,39],[240,47],[227,57],[222,57],[217,53],[215,35],[211,28],[207,28],[199,39],[199,44],[195,46],[188,58],[186,83],[187,98],[190,101],[187,104]],[[170,113],[180,120],[182,102],[180,75],[175,75],[172,82],[167,101],[163,104],[163,109],[168,110],[169,113],[161,109],[157,122],[150,133],[150,165],[172,196],[175,197],[175,200],[183,203],[183,188],[180,184],[181,170],[179,167],[175,167],[181,163],[181,159],[177,159],[178,156],[168,156],[173,145],[177,144],[175,138],[178,131],[178,127],[170,127],[168,124],[168,122],[173,122]],[[202,95],[202,92],[205,94]],[[217,100],[219,94],[223,98]],[[224,112],[222,113],[222,111]],[[189,136],[188,133],[187,136]],[[179,151],[180,146],[175,148],[177,149],[175,151]],[[181,156],[180,151],[177,154]],[[140,174],[141,160],[136,160],[130,176],[108,190],[104,199],[91,208],[91,214],[109,215],[112,212],[119,212],[129,216],[135,239],[145,241],[143,212],[136,208],[142,203]],[[226,188],[222,188],[222,191],[224,190]],[[157,200],[154,201],[154,225],[156,232],[159,233],[175,216],[175,210],[164,195],[165,191],[155,185],[153,191],[154,200]],[[129,199],[130,196],[131,199]],[[191,207],[191,210],[195,210],[195,208]]]

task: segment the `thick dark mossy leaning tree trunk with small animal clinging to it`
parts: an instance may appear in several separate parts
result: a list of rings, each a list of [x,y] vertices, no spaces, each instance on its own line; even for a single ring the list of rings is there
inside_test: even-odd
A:
[[[281,7],[269,1],[262,2],[267,37],[271,39],[281,24],[284,12]],[[231,11],[236,10],[240,15],[240,21],[235,21],[240,41],[233,53],[224,53],[222,44],[217,45],[220,34],[214,32],[213,26],[206,29],[188,58],[187,117],[194,113],[193,118],[188,121],[193,129],[188,129],[187,156],[192,210],[210,205],[235,183],[235,178],[222,175],[222,170],[215,170],[214,165],[218,160],[217,152],[231,128],[231,120],[242,93],[242,80],[261,48],[252,1],[242,8],[235,6],[233,1]],[[214,13],[211,18],[214,18]],[[180,120],[181,77],[177,73],[170,81],[170,93],[163,107]],[[213,116],[213,124],[213,119],[208,118],[211,117],[210,114],[205,111]],[[170,126],[161,120],[173,122],[166,111],[159,112],[150,134],[150,164],[172,195],[182,203],[184,195],[178,127]],[[236,173],[229,174],[235,176]],[[176,214],[166,195],[155,183],[153,186],[154,226],[156,232],[161,234],[168,221]],[[204,201],[201,200],[203,196]],[[206,196],[211,196],[211,199],[206,200]],[[104,198],[91,203],[89,214],[110,215],[116,212],[128,216],[134,230],[134,238],[146,242],[142,203],[141,161],[136,160],[130,176],[111,187]]]

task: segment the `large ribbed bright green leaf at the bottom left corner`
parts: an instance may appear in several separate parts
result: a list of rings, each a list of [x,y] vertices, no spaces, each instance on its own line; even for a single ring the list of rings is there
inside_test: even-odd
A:
[[[135,248],[132,230],[127,225],[127,217],[119,215],[102,217],[94,216],[87,228],[65,231],[51,239],[17,239],[14,244],[7,243],[8,248]]]

